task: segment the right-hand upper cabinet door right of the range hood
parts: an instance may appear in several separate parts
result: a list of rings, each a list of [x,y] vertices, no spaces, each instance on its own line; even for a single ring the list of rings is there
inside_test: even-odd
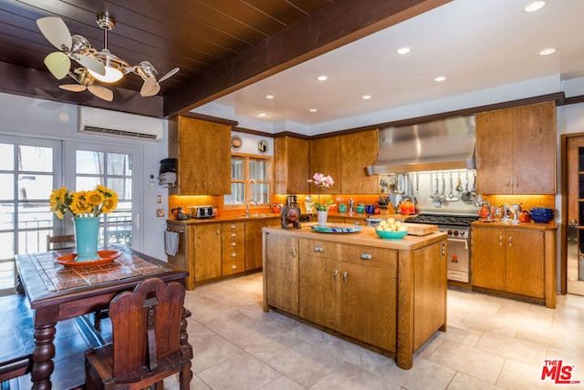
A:
[[[556,193],[556,104],[513,108],[513,191]]]

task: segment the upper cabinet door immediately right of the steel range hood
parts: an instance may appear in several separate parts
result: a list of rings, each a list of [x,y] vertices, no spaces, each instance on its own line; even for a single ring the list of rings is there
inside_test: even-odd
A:
[[[476,114],[476,188],[482,194],[513,193],[512,122],[510,108]]]

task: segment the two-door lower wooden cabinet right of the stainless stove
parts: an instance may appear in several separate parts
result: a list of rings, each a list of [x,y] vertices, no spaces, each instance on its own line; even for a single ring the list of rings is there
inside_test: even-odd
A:
[[[473,227],[473,285],[545,297],[544,232]]]

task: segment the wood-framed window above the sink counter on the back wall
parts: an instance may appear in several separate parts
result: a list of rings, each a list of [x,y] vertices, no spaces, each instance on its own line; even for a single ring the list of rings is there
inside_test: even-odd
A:
[[[231,158],[231,194],[224,196],[224,205],[245,206],[250,201],[266,205],[270,201],[270,160],[237,155]]]

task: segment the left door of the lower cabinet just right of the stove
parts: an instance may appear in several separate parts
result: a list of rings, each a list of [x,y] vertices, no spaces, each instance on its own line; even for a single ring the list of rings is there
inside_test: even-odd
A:
[[[473,227],[472,239],[473,285],[505,291],[505,232],[499,229]]]

